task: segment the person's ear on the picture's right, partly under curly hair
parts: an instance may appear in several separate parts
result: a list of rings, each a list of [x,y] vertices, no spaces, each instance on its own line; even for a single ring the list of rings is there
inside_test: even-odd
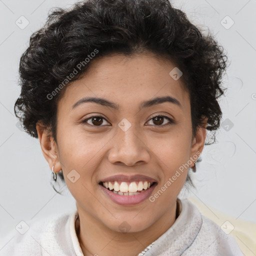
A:
[[[191,150],[190,150],[190,159],[192,161],[196,161],[202,152],[205,138],[206,138],[207,120],[208,118],[204,117],[202,127],[197,128],[196,135],[192,139]],[[192,165],[194,166],[194,163],[192,163]]]

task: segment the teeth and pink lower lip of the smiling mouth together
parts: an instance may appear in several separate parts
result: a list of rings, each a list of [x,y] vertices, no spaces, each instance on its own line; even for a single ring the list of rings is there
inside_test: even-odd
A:
[[[145,200],[152,193],[157,182],[138,180],[125,181],[100,181],[101,190],[113,202],[121,205],[132,205]]]

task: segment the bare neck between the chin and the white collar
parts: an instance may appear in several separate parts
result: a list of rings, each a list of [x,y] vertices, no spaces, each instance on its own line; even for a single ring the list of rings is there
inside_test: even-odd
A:
[[[113,251],[123,256],[134,256],[169,229],[179,211],[178,203],[175,203],[151,226],[127,233],[111,230],[93,216],[79,213],[75,230],[84,256],[109,256]]]

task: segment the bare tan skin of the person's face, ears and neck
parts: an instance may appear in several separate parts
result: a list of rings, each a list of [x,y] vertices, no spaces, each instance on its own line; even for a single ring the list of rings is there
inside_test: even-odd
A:
[[[169,177],[204,146],[206,130],[198,128],[192,137],[189,95],[169,72],[175,65],[150,53],[125,57],[104,56],[91,61],[88,72],[65,89],[57,105],[57,143],[47,127],[37,122],[37,132],[45,159],[54,171],[62,169],[65,183],[76,200],[79,214],[77,236],[84,255],[137,255],[163,234],[175,221],[176,198],[188,168],[168,188],[150,202],[131,206],[112,202],[99,189],[102,178],[114,174],[144,174],[157,180],[154,194]],[[181,107],[164,102],[139,110],[139,104],[156,96],[170,95]],[[84,96],[103,97],[119,104],[119,110],[96,103],[72,105]],[[153,114],[166,115],[160,125]],[[101,115],[93,123],[82,120]],[[127,131],[118,127],[126,118]],[[166,123],[166,124],[165,124]],[[94,124],[94,126],[93,126]],[[101,125],[101,126],[100,126]],[[206,122],[204,127],[206,127]],[[190,164],[190,167],[194,166]],[[75,169],[80,178],[72,183],[67,174]],[[130,229],[121,232],[126,221]]]

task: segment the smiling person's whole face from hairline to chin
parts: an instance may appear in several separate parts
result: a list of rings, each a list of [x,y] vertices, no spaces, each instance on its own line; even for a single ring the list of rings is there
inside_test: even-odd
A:
[[[44,156],[54,171],[62,169],[79,214],[105,228],[120,231],[125,220],[130,232],[141,231],[168,214],[193,166],[188,160],[202,150],[205,132],[192,138],[189,95],[169,75],[174,67],[150,54],[95,59],[58,103],[57,144],[51,140],[45,149],[38,132]],[[152,101],[166,96],[170,101]],[[126,181],[122,189],[132,190],[134,182],[138,189],[139,181],[148,180],[151,186],[134,195],[115,194],[101,184]]]

